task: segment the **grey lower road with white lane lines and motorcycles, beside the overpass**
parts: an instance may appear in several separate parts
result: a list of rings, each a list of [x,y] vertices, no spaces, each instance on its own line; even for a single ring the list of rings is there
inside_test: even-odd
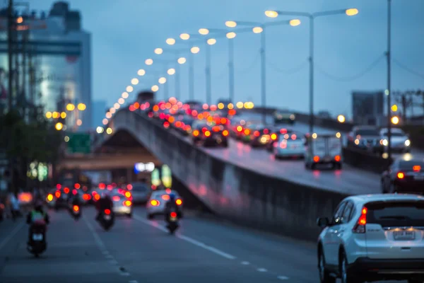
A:
[[[0,282],[318,282],[314,243],[275,236],[186,213],[176,236],[161,219],[118,218],[108,232],[93,220],[92,207],[73,221],[50,212],[48,248],[41,258],[25,249],[28,229],[0,224]],[[5,233],[6,232],[6,233]]]

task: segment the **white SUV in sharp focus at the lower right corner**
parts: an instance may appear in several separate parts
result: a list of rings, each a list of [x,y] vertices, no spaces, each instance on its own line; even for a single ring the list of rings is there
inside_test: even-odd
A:
[[[319,218],[318,269],[322,283],[379,280],[424,282],[424,197],[355,195],[333,218]]]

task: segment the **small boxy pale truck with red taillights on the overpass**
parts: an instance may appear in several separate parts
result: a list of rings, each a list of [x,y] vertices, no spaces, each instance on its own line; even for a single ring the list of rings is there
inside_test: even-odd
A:
[[[306,139],[305,168],[314,170],[319,165],[341,169],[343,164],[341,134],[312,134]]]

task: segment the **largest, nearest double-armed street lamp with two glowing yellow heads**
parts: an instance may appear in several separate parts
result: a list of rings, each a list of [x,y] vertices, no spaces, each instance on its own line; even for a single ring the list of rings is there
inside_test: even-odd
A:
[[[334,16],[341,14],[355,16],[358,14],[358,9],[348,8],[344,10],[324,11],[317,13],[265,11],[265,16],[269,18],[277,18],[278,16],[302,16],[310,19],[310,133],[314,132],[314,19],[322,16]],[[298,21],[290,21],[290,25],[295,26],[296,24],[298,24]]]

